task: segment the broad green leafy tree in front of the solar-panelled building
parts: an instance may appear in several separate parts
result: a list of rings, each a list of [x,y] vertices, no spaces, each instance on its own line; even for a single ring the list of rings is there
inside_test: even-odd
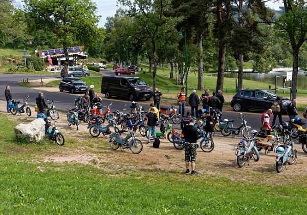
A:
[[[46,30],[57,36],[65,53],[65,72],[68,75],[67,48],[80,42],[89,47],[99,31],[97,7],[91,0],[25,0],[25,13],[32,31]]]

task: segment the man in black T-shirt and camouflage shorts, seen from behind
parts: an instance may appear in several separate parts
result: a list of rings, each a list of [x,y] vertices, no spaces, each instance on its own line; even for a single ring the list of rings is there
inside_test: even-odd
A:
[[[198,132],[194,127],[195,119],[192,117],[190,119],[190,123],[183,127],[182,134],[185,138],[185,164],[186,164],[186,172],[185,174],[189,174],[189,165],[191,163],[191,175],[198,175],[199,173],[195,171],[195,162],[196,162],[196,141],[198,140]]]

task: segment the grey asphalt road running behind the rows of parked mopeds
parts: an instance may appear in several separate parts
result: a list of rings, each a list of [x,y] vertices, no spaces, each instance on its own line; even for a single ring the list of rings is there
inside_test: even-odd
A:
[[[113,71],[109,71],[109,70],[101,70],[102,74],[112,74]],[[10,85],[11,89],[11,93],[13,95],[13,99],[19,100],[19,99],[26,99],[27,95],[29,95],[29,103],[30,104],[35,104],[35,98],[37,97],[37,93],[38,91],[35,89],[31,89],[31,88],[25,88],[25,87],[21,87],[18,82],[19,81],[23,81],[23,79],[40,79],[40,78],[59,78],[59,74],[51,74],[51,75],[18,75],[18,74],[0,74],[0,89],[2,89],[3,93],[1,93],[0,95],[0,99],[1,100],[5,100],[5,96],[4,96],[4,90],[6,85]],[[75,98],[77,98],[78,96],[82,96],[82,94],[70,94],[67,92],[64,93],[60,93],[60,92],[48,92],[48,91],[42,91],[44,93],[44,96],[46,99],[50,99],[50,100],[55,100],[55,106],[57,109],[60,110],[68,110],[70,108],[74,107],[74,100]],[[111,110],[115,111],[115,110],[122,110],[124,108],[129,109],[129,105],[130,105],[130,101],[128,100],[123,100],[123,101],[118,101],[118,100],[113,100],[113,99],[106,99],[106,98],[102,98],[103,100],[103,104],[109,104],[109,103],[113,103]],[[126,104],[126,106],[125,106]],[[142,104],[142,106],[145,109],[148,109],[149,105],[147,104]],[[161,105],[163,106],[163,104]],[[186,112],[190,110],[190,107],[186,107]],[[261,122],[260,122],[260,118],[261,118],[261,113],[249,113],[249,112],[244,112],[245,115],[245,119],[247,120],[247,124],[248,126],[251,126],[253,129],[259,130],[259,128],[261,127]],[[234,126],[238,126],[241,122],[240,119],[238,119],[239,117],[239,113],[238,112],[224,112],[223,113],[223,119],[227,118],[232,118],[234,120]],[[286,117],[286,116],[284,116]]]

